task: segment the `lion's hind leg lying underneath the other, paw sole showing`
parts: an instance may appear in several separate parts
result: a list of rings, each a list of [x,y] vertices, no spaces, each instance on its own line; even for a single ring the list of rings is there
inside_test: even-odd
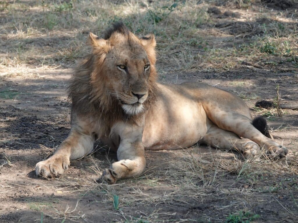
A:
[[[201,142],[224,150],[236,150],[245,158],[260,153],[260,147],[250,139],[240,139],[235,133],[226,131],[213,124]]]

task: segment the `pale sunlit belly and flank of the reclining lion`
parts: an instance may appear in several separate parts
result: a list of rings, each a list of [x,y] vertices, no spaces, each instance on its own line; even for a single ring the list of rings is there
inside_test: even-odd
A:
[[[142,141],[147,150],[181,149],[200,141],[208,125],[201,103],[166,95],[146,115]]]

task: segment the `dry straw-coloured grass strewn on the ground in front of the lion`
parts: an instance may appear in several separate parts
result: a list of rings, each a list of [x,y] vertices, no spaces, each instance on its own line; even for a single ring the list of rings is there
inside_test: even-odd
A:
[[[192,222],[194,219],[177,219],[176,213],[161,212],[157,209],[147,215],[140,209],[140,217],[136,218],[122,210],[134,205],[181,205],[192,206],[192,203],[205,203],[210,200],[215,202],[218,210],[230,211],[243,210],[243,204],[254,199],[262,200],[263,197],[274,197],[277,191],[293,190],[291,182],[295,182],[298,175],[297,154],[291,154],[286,159],[271,161],[260,157],[243,160],[233,153],[218,151],[214,153],[210,148],[209,153],[202,153],[198,147],[180,151],[179,156],[167,163],[167,166],[148,167],[145,174],[131,180],[120,180],[114,185],[106,185],[96,182],[96,176],[102,174],[103,161],[89,156],[82,160],[84,163],[92,163],[89,166],[92,176],[88,178],[63,177],[54,180],[52,185],[61,194],[79,192],[82,196],[88,194],[104,194],[105,198],[98,201],[108,208],[108,213],[122,216],[125,222],[164,222],[164,218],[173,218],[174,222]],[[179,153],[179,152],[178,152]],[[281,183],[283,182],[283,183]],[[295,185],[295,184],[294,184]],[[146,189],[147,188],[147,189]],[[158,191],[166,188],[166,192]],[[150,189],[150,190],[148,190]],[[120,211],[113,210],[112,202],[114,194],[120,196]],[[230,200],[232,203],[224,201]],[[263,200],[264,201],[264,200]],[[78,201],[79,202],[79,201]],[[94,202],[97,202],[96,200]],[[282,204],[281,204],[282,206]],[[286,209],[286,208],[285,208]],[[75,212],[74,209],[71,213]],[[70,208],[58,211],[54,218],[77,219],[83,214],[70,213]],[[236,211],[235,211],[236,212]],[[232,212],[234,213],[234,212]],[[288,209],[289,219],[295,219],[297,214],[292,208]],[[212,222],[221,222],[212,215],[206,215],[201,219]]]

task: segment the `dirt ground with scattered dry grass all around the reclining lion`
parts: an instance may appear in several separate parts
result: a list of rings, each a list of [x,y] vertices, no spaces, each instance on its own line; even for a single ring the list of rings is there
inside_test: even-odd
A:
[[[49,2],[54,5],[54,1]],[[56,1],[54,7],[64,2],[67,1]],[[133,2],[112,4],[130,8]],[[36,177],[35,164],[50,156],[70,130],[66,87],[72,68],[88,51],[85,30],[91,27],[85,26],[79,31],[80,36],[76,36],[75,26],[55,25],[43,30],[42,23],[36,25],[36,30],[41,31],[26,36],[28,29],[15,25],[22,21],[20,14],[28,21],[37,21],[34,13],[29,14],[42,12],[44,6],[34,1],[7,1],[7,5],[3,1],[0,3],[3,58],[0,222],[298,222],[298,111],[282,109],[283,116],[279,117],[277,109],[254,107],[260,99],[276,101],[277,85],[280,103],[298,101],[298,4],[295,1],[186,1],[185,6],[178,8],[179,13],[190,3],[204,11],[203,22],[194,26],[200,41],[165,50],[166,45],[181,43],[175,42],[174,37],[172,43],[156,35],[160,81],[204,82],[240,96],[254,117],[266,117],[271,134],[291,150],[290,155],[280,161],[244,160],[238,153],[200,144],[176,151],[146,151],[147,169],[142,176],[105,185],[96,179],[116,156],[97,142],[95,152],[71,162],[62,177]],[[76,7],[80,4],[85,7],[93,3],[79,1]],[[101,7],[104,10],[106,5]],[[67,13],[63,14],[65,18]],[[261,18],[264,13],[266,18]],[[172,19],[164,18],[161,26],[174,23]],[[287,37],[278,36],[280,30],[277,32],[276,27],[281,25],[277,21],[287,27]],[[22,21],[22,26],[25,23]],[[268,25],[266,32],[260,24]],[[108,25],[107,22],[99,29]],[[268,41],[276,37],[275,45],[264,42],[267,36]],[[257,41],[253,37],[258,37]],[[285,42],[287,49],[283,48]],[[63,45],[72,51],[65,53]],[[114,195],[119,196],[119,210],[113,207]]]

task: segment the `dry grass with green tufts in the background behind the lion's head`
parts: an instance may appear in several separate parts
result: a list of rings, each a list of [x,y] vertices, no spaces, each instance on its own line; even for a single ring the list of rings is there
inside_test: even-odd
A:
[[[72,66],[88,52],[87,33],[101,35],[118,20],[140,36],[156,35],[158,61],[164,71],[235,69],[243,67],[243,61],[265,70],[274,69],[272,63],[290,61],[288,69],[297,70],[297,12],[286,15],[250,7],[240,10],[240,18],[228,18],[219,25],[207,13],[208,7],[195,0],[10,3],[1,12],[7,15],[0,32],[4,40],[1,75]],[[219,9],[224,12],[224,7]],[[248,19],[252,14],[259,23]],[[238,26],[241,22],[246,25]],[[258,33],[243,27],[255,27]]]

